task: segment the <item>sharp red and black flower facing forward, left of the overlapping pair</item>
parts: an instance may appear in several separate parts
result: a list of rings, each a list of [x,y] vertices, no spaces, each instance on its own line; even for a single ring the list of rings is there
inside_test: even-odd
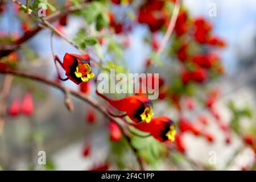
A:
[[[90,68],[89,55],[65,53],[63,68],[66,71],[65,75],[77,85],[94,77]]]

